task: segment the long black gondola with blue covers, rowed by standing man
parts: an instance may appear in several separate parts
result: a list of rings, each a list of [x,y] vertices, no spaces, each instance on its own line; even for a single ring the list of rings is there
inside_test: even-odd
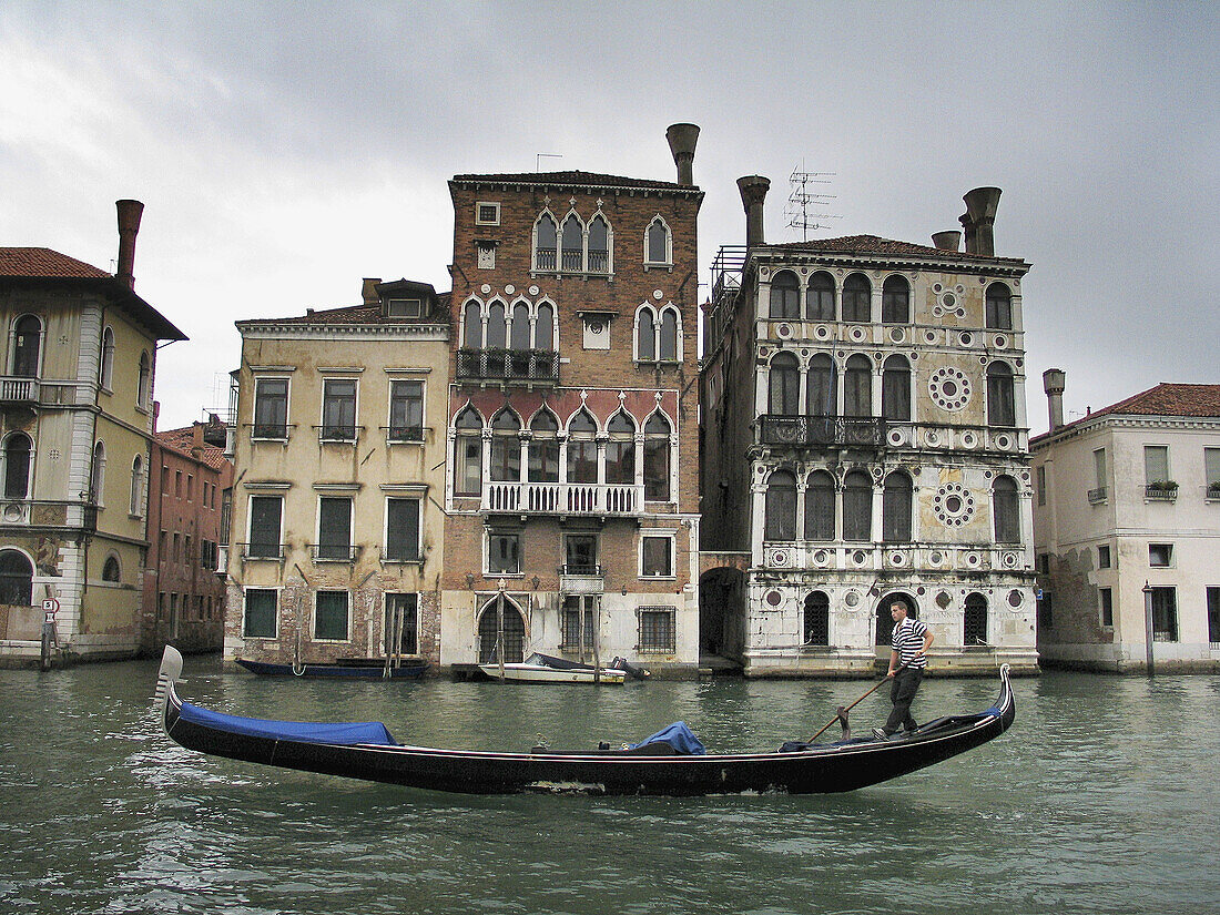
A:
[[[471,794],[854,791],[987,743],[1006,731],[1015,716],[1004,665],[999,698],[989,709],[936,719],[898,739],[844,734],[847,739],[794,742],[770,753],[712,754],[704,753],[697,742],[677,744],[681,749],[676,749],[673,742],[650,738],[617,749],[601,743],[597,750],[534,747],[528,753],[492,753],[403,745],[381,722],[320,725],[224,715],[179,699],[174,684],[181,673],[182,655],[167,647],[157,675],[162,725],[188,749],[283,769]]]

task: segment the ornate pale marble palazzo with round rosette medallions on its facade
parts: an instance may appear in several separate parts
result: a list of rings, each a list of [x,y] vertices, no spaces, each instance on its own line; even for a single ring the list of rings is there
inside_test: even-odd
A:
[[[933,670],[1032,670],[1028,265],[994,256],[999,190],[966,195],[961,251],[766,244],[769,182],[738,185],[704,321],[705,631],[749,675],[871,671],[899,598]]]

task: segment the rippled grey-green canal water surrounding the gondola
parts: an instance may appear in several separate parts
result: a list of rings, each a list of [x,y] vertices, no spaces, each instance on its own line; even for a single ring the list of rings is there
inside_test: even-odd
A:
[[[160,731],[156,664],[0,671],[5,913],[1215,913],[1220,677],[1019,680],[1013,730],[843,795],[466,797],[201,756]],[[218,710],[386,721],[400,742],[709,749],[809,737],[867,682],[529,687],[223,673]],[[884,689],[853,711],[880,723]],[[998,680],[928,680],[916,716]]]

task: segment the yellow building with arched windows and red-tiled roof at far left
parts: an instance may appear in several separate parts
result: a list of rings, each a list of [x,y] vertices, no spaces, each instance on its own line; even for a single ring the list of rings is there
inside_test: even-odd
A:
[[[139,650],[157,343],[185,339],[134,292],[142,212],[118,201],[116,276],[0,248],[2,660],[39,659],[44,600],[68,659]]]

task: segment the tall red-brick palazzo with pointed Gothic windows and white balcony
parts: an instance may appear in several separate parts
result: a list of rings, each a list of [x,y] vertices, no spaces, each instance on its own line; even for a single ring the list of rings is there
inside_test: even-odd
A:
[[[445,664],[503,638],[695,671],[697,134],[670,128],[677,183],[449,183]]]

